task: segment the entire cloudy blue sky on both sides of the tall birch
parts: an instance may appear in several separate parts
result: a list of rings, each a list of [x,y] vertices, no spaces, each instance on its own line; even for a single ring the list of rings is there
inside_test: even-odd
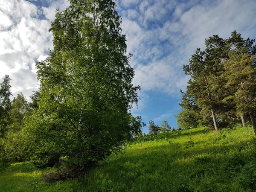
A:
[[[166,120],[177,128],[180,89],[186,91],[189,76],[183,64],[212,35],[228,38],[236,30],[244,38],[256,39],[256,0],[116,0],[133,54],[134,85],[141,86],[134,116],[142,116],[148,132],[149,120]],[[53,49],[48,32],[55,9],[64,10],[67,0],[0,0],[0,81],[10,76],[12,94],[22,92],[29,100],[38,90],[35,62]]]

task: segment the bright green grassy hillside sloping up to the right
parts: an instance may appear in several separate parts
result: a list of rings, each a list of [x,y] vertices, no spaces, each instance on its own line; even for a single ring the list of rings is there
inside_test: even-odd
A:
[[[255,157],[252,128],[195,128],[134,141],[91,170],[83,183],[45,183],[42,172],[53,169],[29,162],[0,166],[0,192],[249,192],[256,189]]]

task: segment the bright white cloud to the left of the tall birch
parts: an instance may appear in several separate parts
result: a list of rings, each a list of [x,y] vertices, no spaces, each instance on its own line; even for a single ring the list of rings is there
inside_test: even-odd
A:
[[[53,48],[48,29],[55,9],[68,6],[65,0],[47,8],[31,2],[35,0],[0,1],[0,79],[8,74],[13,95],[23,92],[27,98],[38,89],[35,62],[44,60]]]

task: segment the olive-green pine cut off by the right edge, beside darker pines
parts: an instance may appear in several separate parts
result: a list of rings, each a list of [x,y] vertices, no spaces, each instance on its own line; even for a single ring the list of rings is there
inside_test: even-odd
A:
[[[255,57],[248,52],[247,47],[233,49],[229,56],[230,59],[225,62],[226,88],[236,91],[226,99],[233,99],[236,102],[237,113],[241,116],[243,125],[244,114],[249,113],[256,134],[256,68],[253,66]]]

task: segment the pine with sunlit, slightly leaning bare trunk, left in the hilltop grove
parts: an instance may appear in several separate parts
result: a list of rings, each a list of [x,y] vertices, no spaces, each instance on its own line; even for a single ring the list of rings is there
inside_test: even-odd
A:
[[[218,131],[215,116],[215,103],[218,98],[212,91],[212,80],[218,76],[221,67],[220,63],[214,60],[208,52],[198,48],[189,60],[189,65],[184,65],[184,72],[192,77],[188,82],[187,91],[197,99],[205,115],[208,111],[211,113],[214,128]]]

